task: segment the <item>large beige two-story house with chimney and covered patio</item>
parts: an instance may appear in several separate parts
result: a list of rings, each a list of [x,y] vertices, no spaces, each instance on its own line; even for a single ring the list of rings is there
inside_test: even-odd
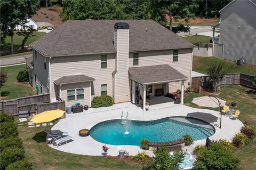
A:
[[[143,109],[146,94],[190,85],[195,47],[153,20],[68,20],[30,46],[29,82],[52,102],[135,103],[140,92]]]

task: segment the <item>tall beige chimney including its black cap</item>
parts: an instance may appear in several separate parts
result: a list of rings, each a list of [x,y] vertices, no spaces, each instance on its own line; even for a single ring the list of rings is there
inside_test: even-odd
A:
[[[116,49],[114,76],[114,102],[130,101],[129,86],[129,24],[115,23],[114,47]]]

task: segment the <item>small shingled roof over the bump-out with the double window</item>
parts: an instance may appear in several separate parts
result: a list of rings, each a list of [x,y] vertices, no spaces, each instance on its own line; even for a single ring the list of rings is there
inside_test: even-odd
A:
[[[95,79],[93,77],[85,75],[71,75],[71,76],[62,76],[59,79],[55,80],[54,83],[59,84],[70,84],[70,83],[81,83],[81,82],[91,82]]]

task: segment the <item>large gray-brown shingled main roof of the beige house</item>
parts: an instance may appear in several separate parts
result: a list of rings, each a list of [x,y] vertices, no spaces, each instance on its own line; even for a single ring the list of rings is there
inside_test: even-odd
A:
[[[45,56],[115,53],[116,22],[130,25],[129,51],[195,47],[153,20],[68,20],[30,46]]]

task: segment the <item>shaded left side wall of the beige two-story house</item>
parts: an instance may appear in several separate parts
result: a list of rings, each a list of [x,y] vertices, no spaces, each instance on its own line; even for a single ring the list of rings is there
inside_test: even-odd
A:
[[[33,50],[33,61],[34,70],[31,71],[31,76],[33,76],[33,83],[31,84],[35,89],[36,85],[39,86],[39,93],[44,94],[49,93],[50,82],[49,82],[49,58],[45,58],[41,53],[37,52],[35,56],[35,50]],[[46,61],[46,69],[44,68],[44,61]],[[35,80],[36,75],[36,80]],[[41,85],[42,83],[42,85]],[[41,92],[42,87],[42,92]],[[47,90],[47,88],[49,90]]]

